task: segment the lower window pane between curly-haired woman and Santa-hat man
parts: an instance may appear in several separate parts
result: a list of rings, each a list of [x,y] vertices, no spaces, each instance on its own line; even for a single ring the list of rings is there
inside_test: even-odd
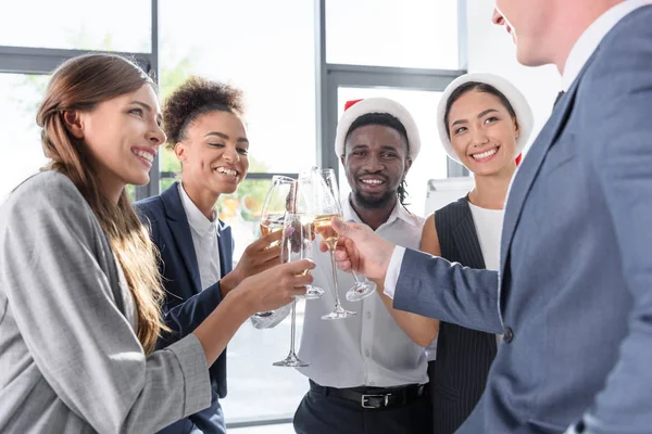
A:
[[[236,260],[260,237],[260,217],[269,180],[244,180],[238,191],[220,199],[220,218],[231,227]],[[297,308],[297,335],[303,324],[303,302]],[[299,337],[297,337],[297,342]],[[226,421],[291,417],[308,388],[293,369],[273,367],[290,345],[289,318],[271,330],[244,323],[228,345],[228,396],[222,403]]]

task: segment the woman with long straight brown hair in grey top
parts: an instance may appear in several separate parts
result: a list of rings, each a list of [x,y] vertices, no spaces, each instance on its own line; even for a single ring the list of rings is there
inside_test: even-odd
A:
[[[50,163],[0,207],[0,432],[152,433],[206,408],[209,366],[251,315],[304,293],[296,275],[313,266],[241,281],[156,348],[179,328],[162,321],[156,251],[125,193],[165,141],[151,78],[116,55],[72,59],[37,123]]]

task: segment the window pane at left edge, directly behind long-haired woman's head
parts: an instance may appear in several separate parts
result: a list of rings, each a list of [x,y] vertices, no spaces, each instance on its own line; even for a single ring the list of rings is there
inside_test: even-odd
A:
[[[47,159],[40,144],[36,112],[48,76],[0,74],[0,203],[25,178],[34,175]]]

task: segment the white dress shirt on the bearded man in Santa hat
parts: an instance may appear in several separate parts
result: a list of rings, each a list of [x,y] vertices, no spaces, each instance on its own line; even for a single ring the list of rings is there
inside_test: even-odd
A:
[[[349,201],[342,202],[342,213],[344,220],[362,222]],[[423,225],[422,217],[397,204],[376,233],[393,243],[418,248]],[[324,289],[325,294],[305,303],[299,358],[310,362],[310,367],[299,368],[299,371],[317,384],[338,388],[427,383],[424,348],[401,330],[380,296],[375,293],[355,303],[346,299],[347,291],[353,286],[350,273],[337,270],[340,303],[344,309],[358,315],[330,321],[322,319],[335,307],[330,256],[316,247],[313,259],[316,264],[312,270],[313,284]],[[364,279],[363,276],[359,278]],[[252,321],[256,328],[273,327],[288,311],[288,308],[281,308],[274,319],[252,318]]]

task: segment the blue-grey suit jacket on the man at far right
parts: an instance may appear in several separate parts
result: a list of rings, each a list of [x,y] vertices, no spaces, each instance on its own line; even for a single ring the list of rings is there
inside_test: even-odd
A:
[[[524,158],[500,275],[405,253],[397,308],[504,333],[459,433],[652,433],[651,23],[605,36]]]

